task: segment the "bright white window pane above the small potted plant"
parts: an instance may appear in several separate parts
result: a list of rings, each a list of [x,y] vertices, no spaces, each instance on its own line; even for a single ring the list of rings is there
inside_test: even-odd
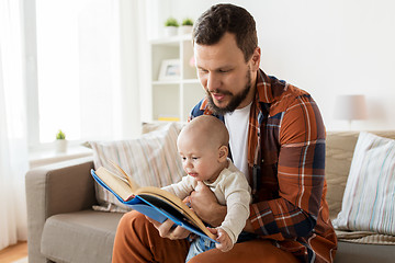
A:
[[[30,128],[38,128],[38,138],[33,145],[54,141],[58,129],[69,140],[111,137],[119,96],[112,1],[35,2],[38,119]]]

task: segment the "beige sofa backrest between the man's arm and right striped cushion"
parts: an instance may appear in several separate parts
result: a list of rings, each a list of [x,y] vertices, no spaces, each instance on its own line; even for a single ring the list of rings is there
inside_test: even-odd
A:
[[[377,136],[395,139],[395,130],[369,132]],[[326,199],[330,218],[341,209],[341,201],[359,132],[328,132],[326,137],[325,176],[328,184]]]

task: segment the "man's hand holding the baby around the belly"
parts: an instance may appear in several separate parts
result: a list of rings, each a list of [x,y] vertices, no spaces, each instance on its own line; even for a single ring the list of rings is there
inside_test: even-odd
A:
[[[193,211],[212,227],[221,226],[226,216],[226,206],[219,205],[214,193],[201,181],[191,193],[190,203]]]

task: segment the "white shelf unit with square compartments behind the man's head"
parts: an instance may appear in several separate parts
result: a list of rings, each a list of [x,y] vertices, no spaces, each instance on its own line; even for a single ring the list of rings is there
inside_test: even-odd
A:
[[[190,66],[193,57],[191,35],[179,35],[150,42],[153,121],[187,122],[192,107],[204,96],[196,69]],[[163,60],[179,59],[180,77],[159,80]]]

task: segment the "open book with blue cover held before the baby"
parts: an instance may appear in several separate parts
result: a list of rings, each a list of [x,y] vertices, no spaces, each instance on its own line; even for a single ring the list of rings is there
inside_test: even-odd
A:
[[[122,176],[103,167],[97,171],[92,169],[91,174],[121,203],[159,222],[169,218],[176,225],[217,242],[203,221],[179,197],[155,186],[139,187],[117,164],[111,163],[121,172]]]

